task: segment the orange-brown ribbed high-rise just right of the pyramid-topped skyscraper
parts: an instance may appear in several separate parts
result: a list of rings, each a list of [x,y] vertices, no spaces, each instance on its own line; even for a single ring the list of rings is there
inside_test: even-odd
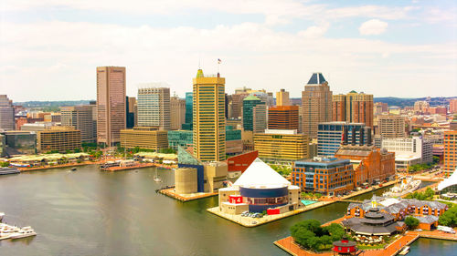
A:
[[[333,120],[364,123],[373,128],[373,95],[350,91],[333,96]]]

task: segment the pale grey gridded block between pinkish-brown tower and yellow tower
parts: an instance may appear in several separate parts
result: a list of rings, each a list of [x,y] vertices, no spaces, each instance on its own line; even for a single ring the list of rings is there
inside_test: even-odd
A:
[[[138,89],[138,126],[170,129],[170,88],[142,85]]]

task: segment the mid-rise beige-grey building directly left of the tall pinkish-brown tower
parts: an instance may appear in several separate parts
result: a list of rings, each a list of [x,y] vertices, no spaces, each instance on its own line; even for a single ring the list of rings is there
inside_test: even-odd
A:
[[[94,142],[97,139],[93,133],[97,124],[92,119],[95,108],[95,105],[60,108],[62,126],[79,129],[81,141]]]

